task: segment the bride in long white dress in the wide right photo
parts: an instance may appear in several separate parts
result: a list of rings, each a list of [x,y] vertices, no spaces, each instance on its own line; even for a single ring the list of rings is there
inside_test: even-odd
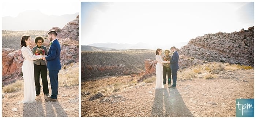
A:
[[[155,72],[157,74],[157,79],[155,81],[155,88],[163,88],[163,64],[168,63],[168,61],[163,61],[161,57],[162,49],[157,49],[155,51],[155,59],[157,60],[157,65],[155,66]]]

